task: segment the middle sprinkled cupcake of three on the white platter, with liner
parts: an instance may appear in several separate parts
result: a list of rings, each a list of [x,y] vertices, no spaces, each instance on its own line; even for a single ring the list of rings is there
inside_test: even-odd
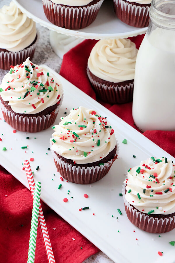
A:
[[[58,172],[77,184],[104,177],[118,156],[114,130],[96,110],[79,107],[61,118],[50,139]]]

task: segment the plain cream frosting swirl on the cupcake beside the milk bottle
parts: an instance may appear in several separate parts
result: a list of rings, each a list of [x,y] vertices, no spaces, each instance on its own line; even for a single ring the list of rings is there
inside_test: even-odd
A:
[[[89,70],[100,79],[122,82],[134,79],[138,49],[129,39],[102,39],[93,47]]]

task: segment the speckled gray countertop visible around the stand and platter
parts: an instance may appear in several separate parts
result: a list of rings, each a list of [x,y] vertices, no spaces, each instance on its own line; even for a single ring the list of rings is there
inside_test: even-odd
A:
[[[10,0],[1,0],[0,8],[9,4]],[[36,24],[38,38],[36,42],[36,50],[32,62],[40,65],[46,64],[56,72],[60,72],[60,67],[62,63],[62,59],[59,58],[53,51],[49,42],[49,30],[45,27],[42,27],[39,24]],[[0,83],[4,75],[8,72],[8,70],[0,70]],[[51,240],[52,241],[52,240]],[[109,259],[103,252],[99,252],[88,259],[86,259],[83,263],[114,263],[111,259]]]

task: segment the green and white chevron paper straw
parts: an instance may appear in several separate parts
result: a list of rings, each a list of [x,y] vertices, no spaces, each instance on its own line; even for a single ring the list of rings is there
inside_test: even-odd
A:
[[[28,252],[27,263],[34,263],[35,261],[36,235],[38,229],[40,195],[41,195],[41,183],[36,182],[35,191],[34,191],[34,203],[33,203],[32,216],[31,216],[29,252]]]

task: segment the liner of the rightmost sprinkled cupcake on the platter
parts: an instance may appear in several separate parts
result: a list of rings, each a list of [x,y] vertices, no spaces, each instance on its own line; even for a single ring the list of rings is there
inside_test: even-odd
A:
[[[134,207],[131,206],[125,199],[125,187],[126,184],[124,184],[122,188],[125,211],[132,224],[150,233],[165,233],[175,228],[175,216],[158,219],[145,215],[144,213],[138,212],[134,209]]]

